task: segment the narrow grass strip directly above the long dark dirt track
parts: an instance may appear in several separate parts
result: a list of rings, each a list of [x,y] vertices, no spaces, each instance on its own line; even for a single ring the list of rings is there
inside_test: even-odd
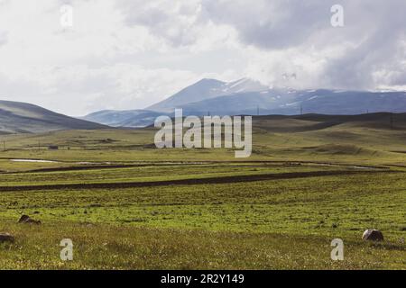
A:
[[[187,168],[180,164],[139,166],[123,166],[119,168],[87,169],[87,170],[62,170],[46,173],[25,172],[0,175],[2,186],[19,186],[24,184],[78,184],[78,183],[126,183],[150,182],[176,179],[202,179],[215,176],[232,175],[263,175],[282,174],[288,172],[319,171],[317,165],[272,164],[272,163],[242,163],[230,164],[188,164]],[[345,170],[345,166],[327,166],[324,170]]]

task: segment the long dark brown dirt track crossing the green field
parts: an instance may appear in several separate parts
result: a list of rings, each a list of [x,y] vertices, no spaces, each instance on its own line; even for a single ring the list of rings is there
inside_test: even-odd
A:
[[[263,180],[281,180],[306,177],[318,177],[329,175],[367,175],[376,173],[397,173],[396,171],[312,171],[312,172],[294,172],[281,174],[263,174],[263,175],[235,175],[224,177],[208,177],[199,179],[179,179],[151,182],[128,182],[128,183],[84,183],[84,184],[49,184],[49,185],[26,185],[26,186],[0,186],[0,192],[13,191],[43,191],[43,190],[72,190],[72,189],[117,189],[132,187],[152,187],[166,185],[182,184],[226,184],[238,182],[254,182]]]

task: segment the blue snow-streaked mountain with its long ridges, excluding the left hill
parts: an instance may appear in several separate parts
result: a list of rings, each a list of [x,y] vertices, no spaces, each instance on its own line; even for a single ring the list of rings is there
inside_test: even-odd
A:
[[[269,88],[248,78],[228,83],[202,79],[145,110],[94,112],[83,119],[115,127],[143,127],[151,125],[159,115],[172,116],[175,108],[183,109],[184,115],[198,116],[406,112],[406,93],[294,90]]]

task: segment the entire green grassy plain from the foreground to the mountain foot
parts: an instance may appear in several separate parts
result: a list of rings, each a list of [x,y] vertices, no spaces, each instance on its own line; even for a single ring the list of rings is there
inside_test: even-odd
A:
[[[255,119],[243,159],[156,149],[152,129],[2,136],[0,232],[15,242],[0,244],[0,267],[406,269],[406,130],[314,124]],[[364,242],[369,228],[385,240]]]

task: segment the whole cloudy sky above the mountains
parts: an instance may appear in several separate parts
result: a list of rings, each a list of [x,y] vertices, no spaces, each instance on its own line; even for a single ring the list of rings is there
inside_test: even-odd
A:
[[[0,99],[83,116],[201,78],[405,91],[405,15],[404,0],[0,0]]]

